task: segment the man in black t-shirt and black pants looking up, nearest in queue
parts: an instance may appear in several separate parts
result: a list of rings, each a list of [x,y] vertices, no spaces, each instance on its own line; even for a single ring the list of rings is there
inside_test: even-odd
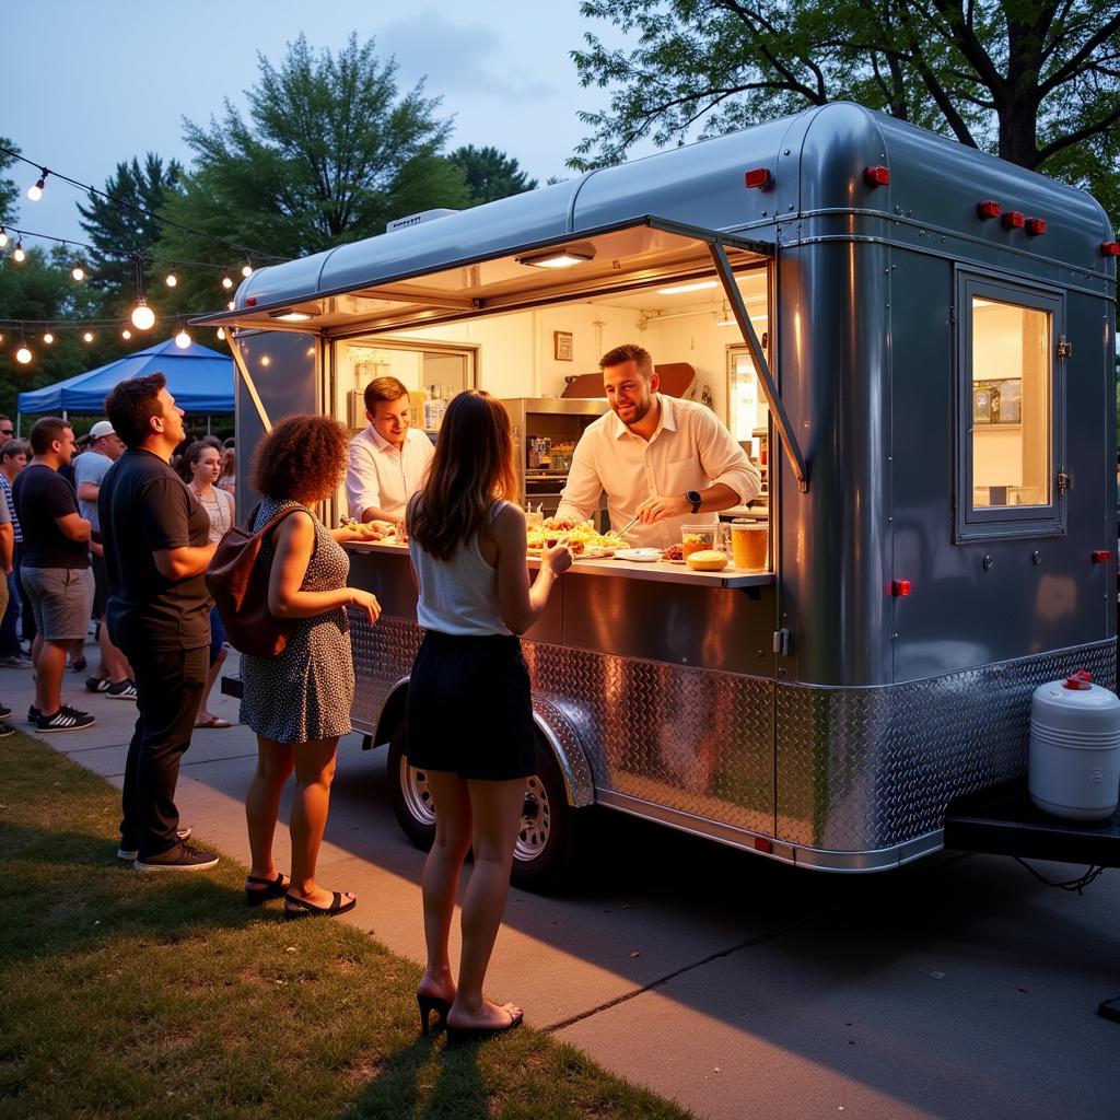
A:
[[[161,373],[122,381],[105,413],[128,450],[97,493],[110,598],[105,622],[136,674],[140,715],[129,744],[118,856],[141,871],[217,864],[187,843],[175,787],[209,668],[211,600],[203,578],[216,544],[209,517],[168,466],[183,410]]]

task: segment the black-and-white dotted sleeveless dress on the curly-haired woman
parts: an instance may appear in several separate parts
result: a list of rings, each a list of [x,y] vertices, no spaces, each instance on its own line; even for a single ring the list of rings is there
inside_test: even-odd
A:
[[[256,514],[262,525],[298,502],[264,498]],[[302,591],[332,591],[346,585],[349,558],[315,517],[315,548]],[[261,548],[258,563],[271,566],[272,548]],[[276,657],[242,654],[241,721],[277,743],[310,743],[345,735],[354,702],[354,661],[346,609],[338,607],[296,627],[283,653]]]

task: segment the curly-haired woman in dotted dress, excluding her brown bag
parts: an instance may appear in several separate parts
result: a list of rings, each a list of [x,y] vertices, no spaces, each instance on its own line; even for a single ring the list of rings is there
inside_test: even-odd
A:
[[[269,610],[297,623],[274,657],[243,654],[241,721],[256,732],[256,772],[245,797],[252,868],[250,905],[284,896],[288,917],[334,917],[353,909],[353,894],[325,890],[315,880],[327,823],[338,736],[349,729],[354,665],[346,607],[371,624],[381,607],[368,591],[346,586],[349,559],[339,542],[360,534],[328,530],[308,508],[329,497],[346,474],[349,432],[327,417],[281,420],[262,440],[253,486],[263,501],[250,529],[282,515],[268,534],[258,563],[269,570]],[[272,857],[280,795],[292,771],[291,878]]]

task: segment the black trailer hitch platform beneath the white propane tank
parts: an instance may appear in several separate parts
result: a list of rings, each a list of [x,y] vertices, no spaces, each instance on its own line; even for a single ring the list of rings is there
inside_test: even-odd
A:
[[[1105,821],[1064,821],[1035,808],[1027,780],[1019,778],[953,801],[945,813],[945,847],[1120,867],[1120,810]]]

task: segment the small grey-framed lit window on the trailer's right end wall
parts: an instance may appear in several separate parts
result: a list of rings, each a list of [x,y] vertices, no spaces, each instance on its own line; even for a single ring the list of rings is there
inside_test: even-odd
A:
[[[959,541],[1064,531],[1062,312],[1057,293],[959,278]]]

